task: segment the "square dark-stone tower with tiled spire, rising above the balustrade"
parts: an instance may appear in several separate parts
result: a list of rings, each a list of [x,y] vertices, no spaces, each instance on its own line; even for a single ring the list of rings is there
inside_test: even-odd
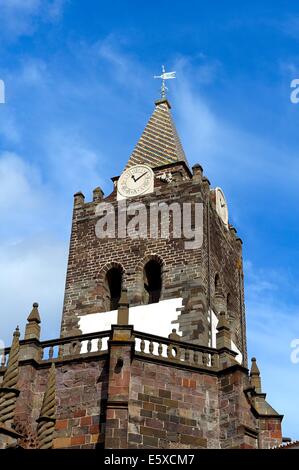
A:
[[[246,365],[242,242],[228,223],[220,188],[211,188],[199,164],[190,170],[170,108],[167,99],[155,103],[154,112],[125,168],[125,173],[136,169],[136,177],[129,174],[129,178],[135,179],[138,168],[143,165],[153,172],[149,190],[139,194],[137,189],[133,196],[129,190],[129,195],[121,198],[123,203],[140,202],[146,206],[145,233],[134,238],[128,233],[122,238],[118,233],[115,238],[96,235],[99,203],[111,204],[118,220],[121,210],[119,177],[112,178],[114,190],[107,197],[100,188],[94,190],[93,201],[88,203],[82,193],[75,194],[61,334],[78,333],[79,320],[84,315],[117,308],[121,287],[125,287],[132,314],[135,306],[173,299],[170,321],[183,340],[194,344],[215,345],[216,324],[220,312],[224,311],[232,331],[233,348]],[[140,176],[142,180],[142,174]],[[124,181],[127,184],[128,177]],[[151,237],[150,207],[159,204],[158,236]],[[183,236],[175,237],[177,227],[174,224],[180,221],[175,219],[171,208],[180,207],[183,219],[184,204],[193,208],[202,204],[199,221],[202,243],[198,247],[190,248]],[[170,221],[171,233],[168,238],[161,238],[165,218]],[[194,218],[192,213],[191,231],[196,229]],[[127,224],[128,221],[129,215]],[[147,290],[151,289],[158,290],[156,299],[150,298]],[[167,311],[168,305],[170,303],[165,302]],[[158,312],[159,307],[153,305],[152,309]],[[159,329],[152,332],[158,333]],[[170,332],[169,324],[165,335]]]

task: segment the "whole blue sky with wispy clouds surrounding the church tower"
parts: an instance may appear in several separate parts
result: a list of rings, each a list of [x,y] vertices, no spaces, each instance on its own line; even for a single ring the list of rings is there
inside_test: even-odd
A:
[[[249,355],[298,438],[299,6],[0,0],[0,21],[0,337],[36,300],[43,338],[58,335],[73,194],[110,192],[165,64],[190,165],[223,188],[244,241]]]

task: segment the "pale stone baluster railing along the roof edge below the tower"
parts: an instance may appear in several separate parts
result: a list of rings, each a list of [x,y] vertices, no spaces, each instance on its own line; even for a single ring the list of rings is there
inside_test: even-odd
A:
[[[40,363],[76,359],[79,356],[93,356],[108,352],[108,341],[113,330],[98,331],[83,335],[68,336],[48,341],[35,341],[39,349]],[[217,369],[219,354],[217,349],[198,346],[162,336],[140,331],[132,331],[135,340],[135,356],[161,362],[172,362],[179,365],[197,368]],[[20,346],[30,344],[30,340],[21,340]],[[0,351],[0,367],[7,366],[10,348]]]

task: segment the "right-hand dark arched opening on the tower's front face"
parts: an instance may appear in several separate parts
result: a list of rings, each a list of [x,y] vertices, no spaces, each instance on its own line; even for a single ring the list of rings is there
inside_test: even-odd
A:
[[[143,271],[145,303],[159,302],[162,289],[161,264],[152,259],[146,263]]]

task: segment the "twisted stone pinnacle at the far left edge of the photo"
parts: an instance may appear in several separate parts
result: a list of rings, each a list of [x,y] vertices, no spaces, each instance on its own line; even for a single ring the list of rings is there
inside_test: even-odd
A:
[[[0,423],[12,421],[19,391],[16,389],[19,376],[20,331],[17,326],[9,353],[7,369],[0,388]]]

